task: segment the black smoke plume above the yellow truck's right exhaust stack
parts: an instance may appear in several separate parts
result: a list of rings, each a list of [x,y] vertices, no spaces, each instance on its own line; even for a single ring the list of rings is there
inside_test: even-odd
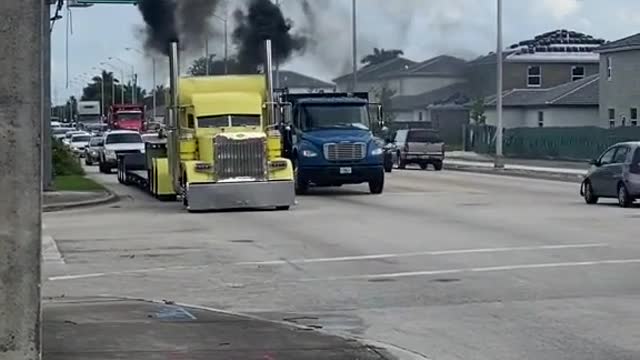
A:
[[[270,0],[251,0],[246,13],[234,12],[236,28],[233,42],[238,47],[237,60],[244,72],[254,73],[264,63],[264,41],[271,39],[273,59],[284,63],[294,52],[303,52],[307,38],[291,33],[293,24]]]

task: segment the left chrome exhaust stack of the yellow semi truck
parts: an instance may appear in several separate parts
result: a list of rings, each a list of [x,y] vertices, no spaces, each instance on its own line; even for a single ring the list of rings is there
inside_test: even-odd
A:
[[[178,42],[169,43],[169,121],[167,139],[167,159],[169,161],[169,174],[173,182],[176,194],[181,194],[180,189],[180,104],[178,99],[178,78],[180,76],[180,59]]]

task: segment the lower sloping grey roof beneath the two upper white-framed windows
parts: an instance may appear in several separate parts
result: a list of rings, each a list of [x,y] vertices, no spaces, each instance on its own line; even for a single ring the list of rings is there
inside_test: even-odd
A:
[[[598,80],[600,75],[568,82],[548,89],[513,89],[502,95],[506,107],[527,106],[598,106]],[[495,106],[496,97],[485,100],[486,106]]]

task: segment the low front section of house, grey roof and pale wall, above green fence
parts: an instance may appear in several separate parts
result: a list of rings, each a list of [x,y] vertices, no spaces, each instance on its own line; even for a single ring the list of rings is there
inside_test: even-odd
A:
[[[596,74],[547,89],[508,90],[502,100],[503,127],[601,126],[599,79]],[[495,126],[496,97],[487,98],[485,105],[486,123]]]

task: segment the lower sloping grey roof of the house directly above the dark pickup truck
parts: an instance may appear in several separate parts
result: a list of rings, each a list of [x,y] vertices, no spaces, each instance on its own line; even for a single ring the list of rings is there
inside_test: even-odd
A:
[[[468,85],[466,83],[458,83],[418,95],[395,96],[391,98],[391,110],[424,109],[429,105],[435,104],[463,104],[469,101],[467,94]]]

